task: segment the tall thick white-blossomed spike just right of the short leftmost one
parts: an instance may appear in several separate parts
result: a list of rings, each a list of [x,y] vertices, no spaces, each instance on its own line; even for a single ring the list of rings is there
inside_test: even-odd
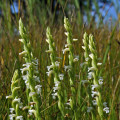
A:
[[[27,36],[27,32],[21,19],[19,20],[19,32],[22,37],[20,42],[23,43],[24,51],[19,53],[19,55],[23,55],[25,59],[25,64],[23,64],[23,68],[21,68],[22,77],[26,84],[27,98],[28,104],[34,102],[34,106],[31,105],[28,107],[29,115],[35,115],[37,120],[41,120],[40,114],[40,105],[41,105],[41,88],[40,79],[37,77],[38,72],[38,60],[34,59],[32,54],[32,47],[30,45],[29,37]],[[26,107],[27,108],[27,107]]]

